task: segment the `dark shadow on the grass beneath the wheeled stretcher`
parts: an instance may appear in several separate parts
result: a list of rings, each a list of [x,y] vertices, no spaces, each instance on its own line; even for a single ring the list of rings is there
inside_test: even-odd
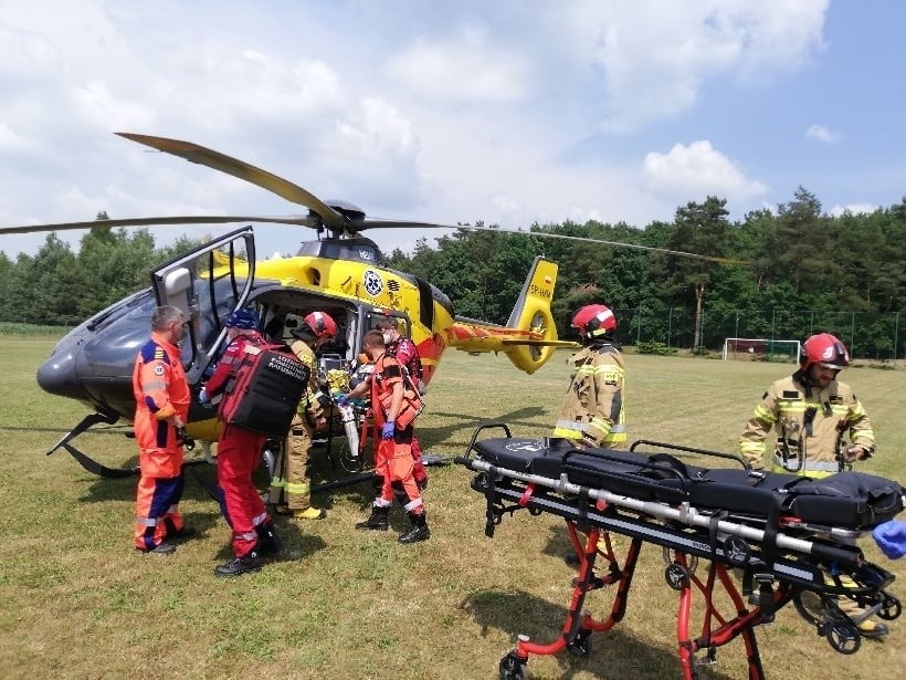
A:
[[[525,590],[480,590],[466,597],[460,607],[481,626],[482,637],[489,629],[509,635],[514,646],[501,650],[501,658],[515,649],[517,635],[527,635],[534,644],[548,645],[560,637],[567,608],[552,605]],[[681,671],[675,647],[662,648],[638,640],[619,629],[592,634],[587,644],[587,656],[577,656],[566,649],[554,656],[561,678],[576,673],[592,673],[597,678],[660,678],[677,677]],[[741,644],[741,642],[740,642]],[[529,671],[531,659],[529,655]],[[488,669],[488,677],[491,677]],[[715,680],[730,680],[730,676],[709,669],[705,676]]]

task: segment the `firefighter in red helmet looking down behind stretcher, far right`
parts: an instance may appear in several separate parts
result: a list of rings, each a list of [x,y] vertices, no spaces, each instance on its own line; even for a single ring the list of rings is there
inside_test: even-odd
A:
[[[768,388],[739,440],[739,452],[754,470],[765,469],[771,430],[777,432],[772,472],[822,478],[871,458],[875,438],[868,415],[852,388],[836,379],[849,365],[846,346],[830,333],[812,335],[802,344],[799,370]],[[858,621],[864,637],[887,635],[887,627],[864,618],[855,601],[842,598],[837,604]]]

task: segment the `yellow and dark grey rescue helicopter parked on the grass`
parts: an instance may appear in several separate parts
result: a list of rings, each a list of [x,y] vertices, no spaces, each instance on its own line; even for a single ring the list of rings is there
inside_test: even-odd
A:
[[[107,477],[133,473],[93,461],[72,444],[91,427],[131,420],[135,401],[131,369],[135,355],[149,333],[157,304],[172,304],[190,320],[182,359],[197,390],[217,360],[225,337],[223,321],[243,306],[255,306],[263,328],[280,333],[312,311],[327,312],[337,323],[336,338],[320,351],[322,368],[351,363],[367,331],[387,320],[404,326],[419,348],[429,383],[447,348],[472,354],[497,352],[520,370],[534,373],[557,339],[550,312],[557,279],[556,263],[536,258],[505,326],[457,316],[450,299],[436,286],[412,274],[382,265],[380,250],[361,232],[373,228],[445,227],[411,221],[377,220],[343,201],[322,201],[305,189],[271,172],[206,147],[177,139],[119,133],[123,137],[228,172],[308,209],[302,217],[157,217],[61,224],[0,228],[2,233],[89,229],[97,226],[270,222],[315,229],[318,239],[304,242],[294,257],[255,260],[254,233],[243,227],[151,272],[151,286],[95,314],[63,337],[38,370],[46,391],[77,399],[92,409],[49,451],[69,451],[93,472]],[[211,407],[193,405],[188,435],[217,439]]]

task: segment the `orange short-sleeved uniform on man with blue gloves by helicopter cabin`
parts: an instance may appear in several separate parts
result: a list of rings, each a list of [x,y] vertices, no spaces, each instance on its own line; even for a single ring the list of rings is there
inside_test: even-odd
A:
[[[393,394],[393,386],[401,381],[402,368],[399,362],[388,354],[378,357],[371,373],[371,409],[377,431],[387,422],[384,409]],[[417,395],[405,396],[412,398]],[[381,439],[375,454],[375,474],[383,478],[380,494],[375,499],[375,506],[389,508],[396,496],[411,517],[424,513],[421,491],[413,474],[415,461],[412,458],[412,433],[415,415],[404,399],[397,417],[393,439]]]

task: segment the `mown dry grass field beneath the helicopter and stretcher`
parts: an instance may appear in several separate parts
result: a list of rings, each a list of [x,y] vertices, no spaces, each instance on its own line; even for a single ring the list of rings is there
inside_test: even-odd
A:
[[[329,511],[324,522],[277,519],[291,559],[217,579],[213,567],[230,556],[228,529],[189,475],[182,510],[200,537],[171,557],[136,554],[135,480],[99,480],[65,452],[44,456],[86,412],[34,381],[53,339],[6,335],[0,342],[4,678],[496,678],[517,634],[535,641],[558,635],[573,577],[561,559],[568,546],[562,522],[518,513],[486,538],[484,500],[460,465],[432,469],[432,537],[414,546],[396,542],[407,526],[398,509],[391,514],[397,531],[355,531],[370,500],[362,484],[317,496]],[[503,357],[447,353],[421,419],[423,448],[461,454],[475,425],[492,419],[517,436],[548,433],[568,379],[566,356],[526,376]],[[725,451],[735,449],[767,385],[792,367],[638,355],[626,363],[633,438]],[[845,379],[865,402],[879,442],[862,469],[906,479],[906,372],[852,368]],[[110,467],[133,464],[135,446],[123,432],[89,433],[77,443]],[[326,453],[316,456],[319,479],[327,479]],[[871,540],[863,548],[893,567],[899,577],[893,590],[906,595],[906,564],[885,561]],[[592,636],[587,657],[533,657],[531,677],[678,677],[677,597],[663,566],[660,550],[645,548],[624,621]],[[587,606],[609,611],[609,589],[591,594]],[[769,678],[906,677],[903,621],[893,623],[885,641],[866,640],[850,657],[833,652],[792,607],[760,627],[758,638]],[[741,641],[718,650],[717,659],[705,678],[746,677]]]

